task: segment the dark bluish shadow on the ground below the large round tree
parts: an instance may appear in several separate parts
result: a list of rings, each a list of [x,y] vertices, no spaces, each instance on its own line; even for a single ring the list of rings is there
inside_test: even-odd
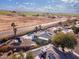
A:
[[[76,55],[74,55],[72,52],[64,53],[57,49],[56,47],[53,47],[54,51],[60,56],[60,59],[79,59]]]

